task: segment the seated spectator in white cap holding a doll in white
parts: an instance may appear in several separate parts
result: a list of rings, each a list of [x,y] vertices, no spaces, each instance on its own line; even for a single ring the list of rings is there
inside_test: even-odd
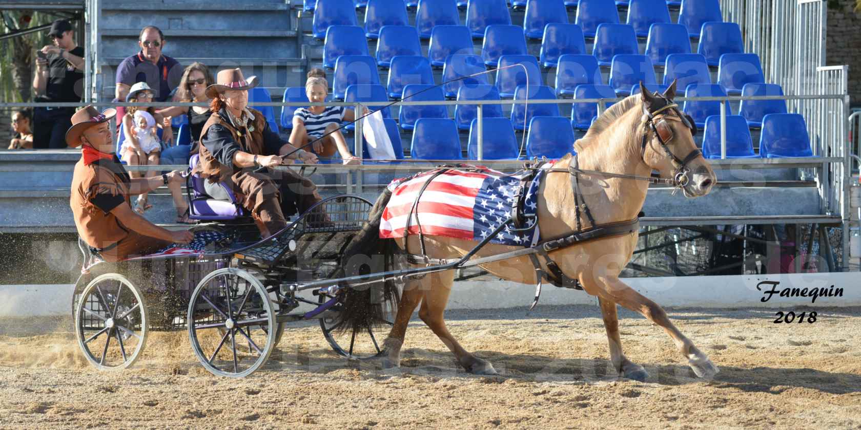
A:
[[[152,89],[150,89],[149,85],[144,82],[135,83],[132,88],[129,90],[129,93],[126,97],[126,101],[130,103],[146,103],[152,101],[153,93]],[[146,114],[152,116],[152,126],[147,126],[145,128],[152,127],[161,127],[163,129],[162,132],[162,140],[164,141],[172,141],[173,140],[173,132],[170,130],[170,121],[164,121],[164,117],[161,114],[155,112],[154,107],[128,107],[126,114],[122,118],[122,136],[123,139],[120,142],[120,153],[117,154],[118,157],[121,158],[122,161],[126,162],[129,166],[138,166],[138,165],[158,165],[159,155],[161,151],[161,145],[157,144],[153,146],[152,144],[148,144],[147,142],[141,141],[139,138],[139,132],[136,132],[135,126],[139,126],[139,122],[135,120],[136,117],[139,117],[139,112],[146,112]],[[146,118],[146,115],[144,116]],[[149,122],[149,121],[147,121]],[[166,123],[166,126],[165,126]],[[146,133],[146,135],[149,135]],[[156,132],[152,132],[152,136],[155,137]],[[156,141],[158,143],[158,139]],[[146,147],[145,147],[146,146]],[[148,150],[148,151],[147,151]],[[156,175],[156,170],[150,170],[146,172],[146,176],[144,172],[129,172],[129,175],[132,178],[139,177],[148,177]],[[184,203],[184,202],[180,202]],[[174,201],[174,204],[177,206],[177,210],[180,209],[180,205],[177,204],[177,201]],[[184,206],[184,205],[182,205]],[[148,202],[148,194],[141,193],[138,196],[138,201],[136,207],[133,207],[135,212],[143,214],[149,209],[152,209],[152,205]],[[183,207],[184,209],[184,207]],[[177,211],[178,212],[178,211]],[[183,216],[184,217],[184,216]],[[186,220],[177,220],[177,222],[185,222]]]

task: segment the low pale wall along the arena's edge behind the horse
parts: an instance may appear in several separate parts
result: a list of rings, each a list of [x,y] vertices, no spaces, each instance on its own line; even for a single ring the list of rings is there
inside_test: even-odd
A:
[[[755,276],[702,276],[673,278],[628,278],[625,282],[662,306],[740,308],[761,307],[794,310],[801,306],[832,307],[861,305],[858,273],[794,273]],[[766,298],[771,286],[762,281],[779,282],[784,288],[843,288],[842,297]],[[0,286],[0,318],[6,316],[56,316],[71,312],[71,285]],[[478,280],[455,283],[449,298],[450,309],[528,309],[534,288],[508,281]],[[539,304],[597,304],[585,292],[545,286]]]

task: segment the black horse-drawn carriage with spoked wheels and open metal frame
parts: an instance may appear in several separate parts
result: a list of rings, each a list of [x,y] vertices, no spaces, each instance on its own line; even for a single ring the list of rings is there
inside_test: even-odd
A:
[[[82,246],[72,304],[78,346],[96,368],[123,369],[140,358],[151,331],[187,329],[209,372],[244,377],[265,364],[288,323],[319,320],[335,353],[375,357],[381,347],[373,330],[339,329],[338,288],[310,297],[287,288],[336,273],[370,206],[356,195],[330,197],[263,240],[247,218],[200,224],[195,249],[115,263]]]

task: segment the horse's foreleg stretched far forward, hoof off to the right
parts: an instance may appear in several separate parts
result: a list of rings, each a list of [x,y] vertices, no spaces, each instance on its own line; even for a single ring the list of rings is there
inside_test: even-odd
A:
[[[658,304],[639,292],[635,292],[633,288],[619,280],[616,276],[597,277],[597,281],[600,285],[595,285],[596,281],[589,279],[589,276],[584,275],[580,279],[587,292],[592,290],[598,293],[599,298],[606,298],[623,305],[629,310],[640,312],[649,321],[664,329],[666,334],[670,335],[672,340],[675,341],[678,351],[688,360],[688,365],[691,366],[691,370],[697,374],[697,377],[711,378],[715,373],[719,372],[717,366],[709,359],[709,356],[694,346],[694,343],[676,328],[670,321],[670,318],[666,316],[666,311]],[[590,285],[591,288],[587,288],[586,285]]]

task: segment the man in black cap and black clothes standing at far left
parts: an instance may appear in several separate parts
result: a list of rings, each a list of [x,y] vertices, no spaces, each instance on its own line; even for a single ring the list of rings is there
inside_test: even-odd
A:
[[[75,43],[71,23],[57,20],[48,33],[53,45],[36,52],[33,89],[37,102],[76,102],[84,95],[84,48]],[[33,147],[65,148],[74,107],[36,107],[33,111]]]

